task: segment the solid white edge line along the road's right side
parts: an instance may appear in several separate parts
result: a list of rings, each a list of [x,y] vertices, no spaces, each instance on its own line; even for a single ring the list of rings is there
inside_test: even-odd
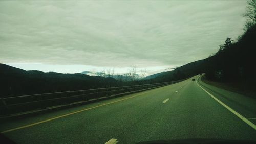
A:
[[[200,78],[200,77],[199,77]],[[198,78],[198,79],[199,79]],[[197,79],[197,81],[198,81]],[[197,82],[196,81],[196,82]],[[233,109],[231,109],[229,106],[227,106],[226,104],[222,103],[219,99],[217,99],[216,97],[214,97],[214,95],[210,94],[208,91],[206,91],[203,87],[201,87],[198,83],[197,85],[202,88],[207,94],[210,95],[211,98],[214,98],[217,102],[219,102],[222,106],[224,106],[226,109],[228,109],[230,112],[232,112],[234,115],[237,115],[237,117],[239,117],[240,119],[242,119],[242,121],[244,121],[246,124],[248,124],[249,126],[251,126],[254,130],[256,130],[256,125],[254,125],[253,123],[251,123],[248,119],[246,119],[244,116],[242,116],[241,114],[239,114],[238,112],[234,111]]]

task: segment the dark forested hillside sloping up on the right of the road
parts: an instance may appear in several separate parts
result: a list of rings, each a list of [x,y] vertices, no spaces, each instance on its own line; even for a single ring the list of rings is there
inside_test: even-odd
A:
[[[215,55],[161,73],[152,81],[172,81],[205,73],[209,80],[238,82],[248,90],[255,89],[255,38],[256,25],[253,25],[237,42],[227,38]]]

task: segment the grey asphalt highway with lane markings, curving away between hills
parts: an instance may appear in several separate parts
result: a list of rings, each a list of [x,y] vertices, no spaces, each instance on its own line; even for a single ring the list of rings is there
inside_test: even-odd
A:
[[[193,78],[196,81],[191,78],[124,97],[13,119],[0,124],[0,130],[17,143],[256,140],[255,99],[207,85],[199,76]]]

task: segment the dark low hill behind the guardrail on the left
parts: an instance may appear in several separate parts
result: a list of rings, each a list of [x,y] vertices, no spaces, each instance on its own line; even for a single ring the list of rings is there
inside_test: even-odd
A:
[[[118,81],[113,78],[84,74],[44,73],[37,70],[26,71],[6,64],[0,64],[0,80],[1,97],[118,85]]]

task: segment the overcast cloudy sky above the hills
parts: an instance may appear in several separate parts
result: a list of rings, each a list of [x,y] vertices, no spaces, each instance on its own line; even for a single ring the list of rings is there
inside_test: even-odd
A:
[[[0,1],[0,63],[148,74],[207,58],[243,33],[246,1]]]

